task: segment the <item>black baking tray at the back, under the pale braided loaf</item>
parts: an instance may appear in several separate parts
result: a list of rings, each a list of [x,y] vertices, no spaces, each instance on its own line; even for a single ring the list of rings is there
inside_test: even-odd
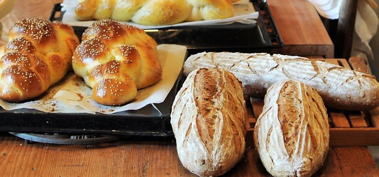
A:
[[[283,47],[271,11],[262,0],[251,0],[259,12],[257,23],[232,23],[229,25],[183,26],[145,30],[158,44],[185,45],[191,53],[203,52],[258,52],[262,49]],[[50,16],[51,21],[61,21],[60,3],[56,4]],[[81,38],[87,27],[74,26]]]

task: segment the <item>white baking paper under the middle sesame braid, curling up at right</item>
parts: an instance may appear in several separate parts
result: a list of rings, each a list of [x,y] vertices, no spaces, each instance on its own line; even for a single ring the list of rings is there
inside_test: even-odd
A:
[[[161,103],[166,99],[182,70],[187,48],[182,45],[158,45],[158,59],[162,66],[162,78],[148,88],[138,90],[135,100],[118,107],[101,105],[92,99],[92,89],[82,78],[74,77],[58,91],[54,98],[68,105],[76,105],[87,111],[111,114],[126,110],[138,110],[151,103]],[[75,111],[70,111],[74,112]]]

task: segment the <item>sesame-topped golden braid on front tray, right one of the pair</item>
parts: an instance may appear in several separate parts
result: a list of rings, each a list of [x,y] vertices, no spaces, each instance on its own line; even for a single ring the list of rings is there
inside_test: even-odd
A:
[[[154,39],[142,29],[110,19],[97,20],[83,33],[72,67],[103,105],[129,102],[137,89],[162,76]]]

